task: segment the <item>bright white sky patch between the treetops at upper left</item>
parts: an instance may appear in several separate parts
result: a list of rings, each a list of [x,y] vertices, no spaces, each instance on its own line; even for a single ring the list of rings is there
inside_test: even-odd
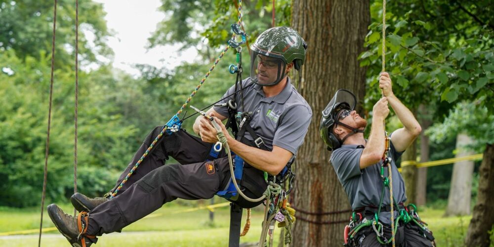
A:
[[[193,61],[195,48],[176,52],[177,46],[165,45],[146,50],[148,38],[156,30],[158,22],[165,18],[159,12],[160,0],[95,0],[103,3],[107,15],[105,20],[116,34],[109,38],[108,45],[115,52],[113,66],[132,75],[139,71],[132,64],[149,64],[158,68],[173,69],[183,61]]]

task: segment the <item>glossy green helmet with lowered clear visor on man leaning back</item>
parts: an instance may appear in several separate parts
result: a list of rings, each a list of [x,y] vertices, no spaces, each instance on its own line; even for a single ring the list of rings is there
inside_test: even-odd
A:
[[[262,86],[273,86],[287,76],[287,64],[293,62],[294,68],[300,70],[307,43],[297,31],[275,27],[260,34],[250,49],[250,79]]]

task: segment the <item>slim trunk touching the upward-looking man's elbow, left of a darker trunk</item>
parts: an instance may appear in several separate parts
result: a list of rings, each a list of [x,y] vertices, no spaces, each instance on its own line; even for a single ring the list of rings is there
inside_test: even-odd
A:
[[[402,162],[404,161],[417,161],[417,145],[413,141],[412,145],[407,148],[402,155]],[[407,193],[407,203],[415,204],[415,181],[417,176],[417,167],[415,165],[407,165],[402,167],[402,176],[405,181],[405,191]]]

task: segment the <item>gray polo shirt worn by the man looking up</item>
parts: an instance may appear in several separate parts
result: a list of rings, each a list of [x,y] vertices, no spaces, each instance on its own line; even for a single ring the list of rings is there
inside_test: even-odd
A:
[[[338,179],[343,185],[352,209],[365,206],[379,206],[379,200],[382,193],[383,182],[380,176],[382,160],[379,163],[360,169],[360,157],[364,148],[358,148],[357,145],[342,145],[334,150],[331,154],[330,162],[333,165]],[[393,143],[390,142],[388,157],[391,157],[391,167],[393,172],[393,195],[397,203],[407,200],[405,195],[405,183],[395,161],[403,153],[397,152]],[[385,168],[384,176],[388,175],[388,169]],[[384,190],[383,205],[389,205],[389,189]],[[397,216],[397,215],[396,215]],[[379,219],[383,223],[389,224],[389,212],[381,212]]]

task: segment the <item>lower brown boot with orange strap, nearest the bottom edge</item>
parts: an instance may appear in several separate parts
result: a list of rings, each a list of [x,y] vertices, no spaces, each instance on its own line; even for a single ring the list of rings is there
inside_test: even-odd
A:
[[[95,236],[85,234],[88,217],[86,212],[82,212],[76,217],[64,213],[60,207],[51,204],[48,206],[48,215],[58,231],[73,247],[89,247],[98,241]]]

